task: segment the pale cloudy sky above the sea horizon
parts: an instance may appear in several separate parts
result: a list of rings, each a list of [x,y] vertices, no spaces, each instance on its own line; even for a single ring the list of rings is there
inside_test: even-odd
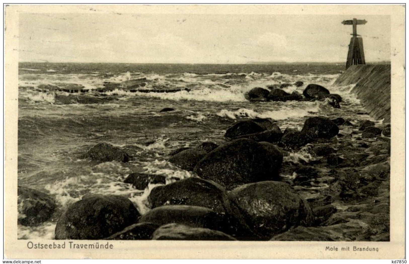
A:
[[[390,16],[21,13],[19,61],[344,63],[353,17],[366,61],[390,60]]]

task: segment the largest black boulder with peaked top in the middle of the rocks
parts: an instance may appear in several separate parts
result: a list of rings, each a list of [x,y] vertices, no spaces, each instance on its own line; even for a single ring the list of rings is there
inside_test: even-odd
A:
[[[271,143],[235,139],[207,154],[193,172],[232,190],[245,183],[278,180],[282,161],[283,154]]]

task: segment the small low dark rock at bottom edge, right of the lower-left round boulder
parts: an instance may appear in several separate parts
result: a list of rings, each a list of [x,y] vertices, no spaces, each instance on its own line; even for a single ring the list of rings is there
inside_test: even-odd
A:
[[[119,231],[118,233],[115,233],[106,239],[151,240],[153,232],[155,232],[157,228],[159,228],[159,226],[152,223],[148,222],[137,223],[126,227],[124,230]]]

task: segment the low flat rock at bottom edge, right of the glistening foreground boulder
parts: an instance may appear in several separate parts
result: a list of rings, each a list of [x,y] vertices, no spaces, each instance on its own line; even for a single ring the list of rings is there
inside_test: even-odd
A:
[[[297,226],[274,236],[272,241],[334,241],[331,233],[319,227]]]

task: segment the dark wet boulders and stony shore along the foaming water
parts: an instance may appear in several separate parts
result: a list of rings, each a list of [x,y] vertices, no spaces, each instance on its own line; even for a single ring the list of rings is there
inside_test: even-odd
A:
[[[342,101],[319,85],[304,97],[270,88],[246,96],[329,100],[335,108]],[[55,239],[389,241],[390,125],[354,123],[313,116],[298,131],[242,119],[226,128],[223,144],[170,152],[167,160],[193,176],[153,188],[147,213],[126,197],[85,195],[58,216]],[[81,158],[132,159],[108,143]],[[124,182],[143,190],[166,176],[131,173]],[[56,202],[19,186],[18,209],[19,224],[36,226],[55,217]]]

